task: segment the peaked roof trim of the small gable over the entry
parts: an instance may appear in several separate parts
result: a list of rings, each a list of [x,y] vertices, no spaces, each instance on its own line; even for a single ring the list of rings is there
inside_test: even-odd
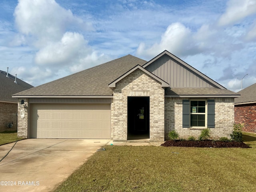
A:
[[[148,74],[149,76],[151,76],[155,80],[158,80],[161,83],[161,86],[163,88],[164,87],[169,87],[169,84],[167,82],[165,82],[164,80],[160,79],[158,76],[155,76],[154,74],[150,73],[148,70],[146,70],[145,68],[143,68],[140,65],[135,66],[134,68],[132,68],[131,70],[129,70],[128,72],[126,72],[125,74],[123,74],[122,76],[120,76],[119,78],[114,80],[113,82],[111,82],[108,86],[110,88],[115,88],[116,87],[116,83],[118,83],[120,80],[122,80],[123,78],[125,78],[126,76],[128,76],[129,74],[131,74],[132,72],[134,72],[137,69],[142,70],[144,73]]]

